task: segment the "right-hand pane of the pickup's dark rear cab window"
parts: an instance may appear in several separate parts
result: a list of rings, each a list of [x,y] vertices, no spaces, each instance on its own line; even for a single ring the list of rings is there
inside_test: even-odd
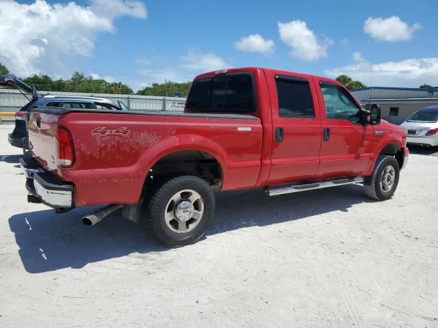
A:
[[[249,74],[228,76],[224,111],[240,113],[254,111],[253,79]]]

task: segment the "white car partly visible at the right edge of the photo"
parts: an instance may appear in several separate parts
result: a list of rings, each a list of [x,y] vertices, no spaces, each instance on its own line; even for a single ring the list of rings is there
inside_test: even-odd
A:
[[[438,146],[438,106],[419,109],[402,123],[407,143]]]

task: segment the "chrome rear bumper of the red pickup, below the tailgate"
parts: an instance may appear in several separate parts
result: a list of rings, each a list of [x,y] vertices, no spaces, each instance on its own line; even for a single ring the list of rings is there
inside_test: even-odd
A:
[[[40,202],[53,208],[73,208],[73,184],[59,180],[50,172],[44,171],[31,157],[20,159],[26,176],[26,189]]]

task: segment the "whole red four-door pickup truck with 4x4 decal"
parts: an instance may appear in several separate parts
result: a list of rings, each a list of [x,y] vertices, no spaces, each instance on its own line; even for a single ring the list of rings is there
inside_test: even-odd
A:
[[[38,107],[28,126],[29,202],[57,212],[111,204],[88,226],[123,207],[170,246],[205,234],[215,189],[273,196],[363,183],[387,200],[409,154],[404,130],[342,84],[266,68],[199,75],[184,113]]]

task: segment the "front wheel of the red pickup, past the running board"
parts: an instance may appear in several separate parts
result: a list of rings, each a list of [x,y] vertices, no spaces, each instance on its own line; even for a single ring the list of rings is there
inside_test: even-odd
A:
[[[388,177],[387,174],[392,176],[392,169],[394,169],[394,181],[391,187],[388,187],[387,183],[389,184],[391,177],[386,177]],[[372,175],[363,180],[365,194],[373,200],[389,200],[397,189],[399,178],[400,167],[394,156],[379,155],[374,165]]]

